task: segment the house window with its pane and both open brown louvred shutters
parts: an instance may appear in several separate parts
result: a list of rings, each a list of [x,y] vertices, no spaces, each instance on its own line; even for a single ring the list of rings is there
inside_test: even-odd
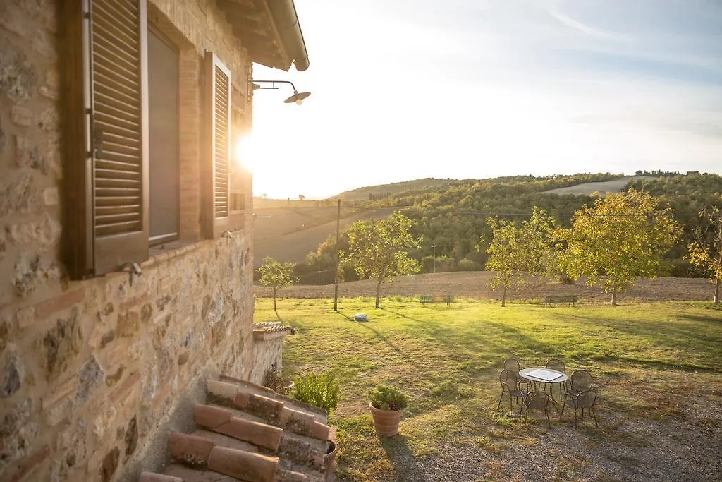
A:
[[[149,33],[147,0],[61,7],[64,259],[69,275],[81,279],[142,262],[150,244],[183,235],[180,199],[197,198],[179,197],[179,52]],[[237,210],[245,199],[232,196],[230,186],[230,69],[212,52],[205,61],[207,130],[195,135],[198,146],[204,140],[207,146],[206,181],[186,185],[202,196],[196,209],[204,236],[217,238],[243,226]]]

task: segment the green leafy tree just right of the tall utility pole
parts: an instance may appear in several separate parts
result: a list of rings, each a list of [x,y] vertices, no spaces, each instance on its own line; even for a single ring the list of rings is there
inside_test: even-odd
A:
[[[378,222],[357,221],[347,231],[349,250],[339,255],[344,265],[353,267],[361,278],[376,280],[376,308],[381,283],[421,269],[416,259],[409,258],[409,249],[419,247],[419,240],[409,233],[412,225],[412,220],[396,211]]]

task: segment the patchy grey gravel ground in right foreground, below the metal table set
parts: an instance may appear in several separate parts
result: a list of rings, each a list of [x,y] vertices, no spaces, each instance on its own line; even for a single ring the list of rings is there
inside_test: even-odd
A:
[[[536,443],[509,441],[499,454],[473,442],[450,442],[426,457],[414,457],[403,442],[388,444],[395,481],[720,481],[722,407],[682,420],[627,421],[600,418],[575,430],[552,416],[552,429],[535,423]],[[690,407],[692,408],[692,407]],[[566,418],[565,413],[565,420]],[[525,429],[522,429],[525,430]],[[525,430],[526,431],[526,430]],[[601,442],[612,437],[616,443]],[[534,439],[532,439],[534,440]]]

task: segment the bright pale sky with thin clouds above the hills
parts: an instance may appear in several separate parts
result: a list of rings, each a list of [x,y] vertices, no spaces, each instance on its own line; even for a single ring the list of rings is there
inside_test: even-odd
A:
[[[310,67],[254,65],[256,196],[416,178],[722,173],[720,0],[295,0]]]

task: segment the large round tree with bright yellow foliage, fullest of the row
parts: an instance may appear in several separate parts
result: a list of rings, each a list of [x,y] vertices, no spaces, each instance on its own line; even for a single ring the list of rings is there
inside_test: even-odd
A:
[[[572,228],[558,231],[566,241],[562,267],[570,277],[601,283],[617,304],[620,291],[638,276],[655,277],[662,257],[679,238],[671,209],[658,210],[658,199],[630,189],[597,199],[574,213]]]

